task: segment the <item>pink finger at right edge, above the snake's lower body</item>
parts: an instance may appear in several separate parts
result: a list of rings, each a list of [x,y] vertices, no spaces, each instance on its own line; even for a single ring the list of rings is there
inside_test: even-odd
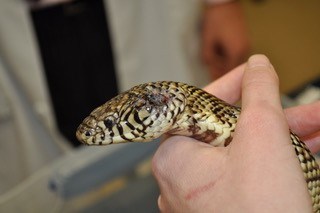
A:
[[[290,129],[300,137],[320,130],[320,101],[285,110]]]

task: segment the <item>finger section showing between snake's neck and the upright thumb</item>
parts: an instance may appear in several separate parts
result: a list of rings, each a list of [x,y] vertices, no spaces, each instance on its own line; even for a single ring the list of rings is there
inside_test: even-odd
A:
[[[245,65],[242,64],[234,68],[223,77],[206,86],[204,90],[230,104],[236,103],[241,96],[241,82],[244,67]]]

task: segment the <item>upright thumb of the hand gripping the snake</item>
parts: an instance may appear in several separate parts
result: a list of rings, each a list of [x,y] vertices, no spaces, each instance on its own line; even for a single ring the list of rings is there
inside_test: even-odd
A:
[[[244,131],[243,136],[247,137],[241,142],[250,143],[254,148],[261,147],[261,144],[254,143],[252,138],[266,141],[267,146],[279,146],[278,141],[290,144],[289,127],[280,101],[279,79],[264,55],[253,55],[248,59],[242,81],[242,112],[237,129],[241,134]],[[282,138],[279,138],[279,131],[284,133]]]

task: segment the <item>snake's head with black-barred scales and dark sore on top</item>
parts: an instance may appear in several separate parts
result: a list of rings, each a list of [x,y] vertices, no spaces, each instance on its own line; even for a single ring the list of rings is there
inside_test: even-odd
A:
[[[185,94],[175,82],[142,84],[96,108],[77,129],[87,145],[147,142],[169,131],[185,108]]]

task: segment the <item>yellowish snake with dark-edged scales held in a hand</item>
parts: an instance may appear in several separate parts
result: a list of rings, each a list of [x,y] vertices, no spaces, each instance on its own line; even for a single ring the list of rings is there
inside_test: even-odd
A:
[[[94,109],[79,125],[86,145],[149,142],[183,135],[213,146],[232,142],[241,108],[195,86],[173,81],[144,83]],[[320,169],[305,143],[290,131],[314,212],[320,212]]]

